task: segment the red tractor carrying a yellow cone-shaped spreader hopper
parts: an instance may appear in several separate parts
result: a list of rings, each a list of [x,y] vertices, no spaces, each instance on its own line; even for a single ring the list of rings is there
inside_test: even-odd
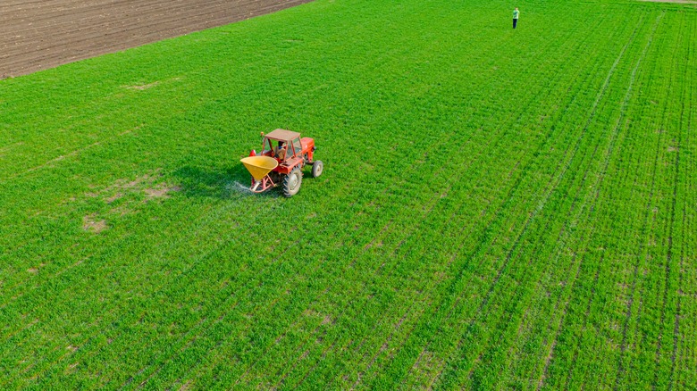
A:
[[[283,196],[295,196],[303,180],[302,168],[312,165],[312,177],[322,175],[323,163],[314,160],[315,140],[300,137],[300,134],[285,129],[275,129],[265,135],[262,133],[260,154],[252,151],[249,157],[241,160],[252,174],[254,193],[262,193],[272,187],[281,185]]]

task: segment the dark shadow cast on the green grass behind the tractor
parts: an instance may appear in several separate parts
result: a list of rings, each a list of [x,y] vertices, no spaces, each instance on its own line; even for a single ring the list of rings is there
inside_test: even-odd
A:
[[[179,179],[184,196],[228,199],[254,195],[249,190],[249,172],[242,165],[228,168],[184,166],[173,175]],[[273,196],[273,192],[265,195]]]

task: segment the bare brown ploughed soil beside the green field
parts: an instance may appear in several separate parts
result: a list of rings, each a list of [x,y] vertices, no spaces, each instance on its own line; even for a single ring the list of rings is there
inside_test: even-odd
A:
[[[312,0],[2,0],[0,79]]]

